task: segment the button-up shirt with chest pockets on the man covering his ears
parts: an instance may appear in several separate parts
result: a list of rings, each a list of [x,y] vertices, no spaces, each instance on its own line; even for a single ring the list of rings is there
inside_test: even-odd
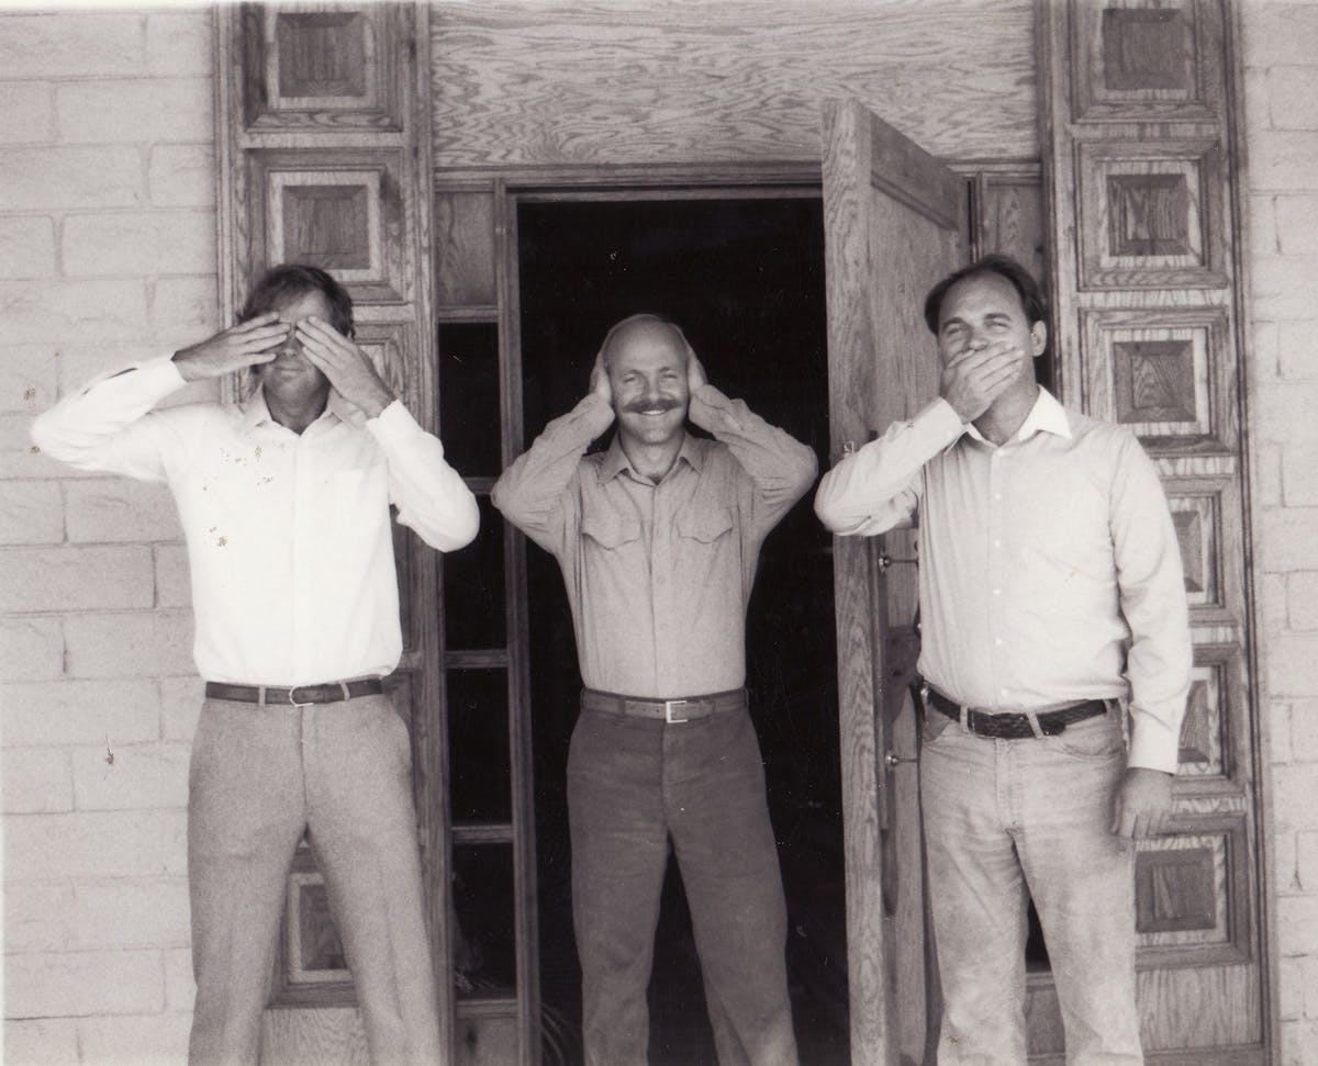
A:
[[[673,468],[654,484],[588,395],[551,422],[494,486],[493,501],[563,571],[588,688],[681,698],[746,680],[746,605],[759,547],[815,480],[815,452],[712,385]]]

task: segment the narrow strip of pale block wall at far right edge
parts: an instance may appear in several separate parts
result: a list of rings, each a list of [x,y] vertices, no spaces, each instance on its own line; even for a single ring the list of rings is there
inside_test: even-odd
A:
[[[1240,0],[1259,708],[1284,1066],[1318,1063],[1318,3]]]

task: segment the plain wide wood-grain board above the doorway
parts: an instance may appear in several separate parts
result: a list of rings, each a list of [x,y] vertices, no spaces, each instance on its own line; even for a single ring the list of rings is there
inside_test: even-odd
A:
[[[940,157],[1033,157],[1028,0],[435,5],[440,167],[809,159],[859,99]]]

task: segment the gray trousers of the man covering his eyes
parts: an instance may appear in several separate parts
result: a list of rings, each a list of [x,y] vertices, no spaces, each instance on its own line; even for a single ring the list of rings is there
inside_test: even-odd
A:
[[[440,1059],[407,726],[385,696],[202,706],[188,796],[192,1063],[254,1063],[285,882],[324,875],[374,1063]]]

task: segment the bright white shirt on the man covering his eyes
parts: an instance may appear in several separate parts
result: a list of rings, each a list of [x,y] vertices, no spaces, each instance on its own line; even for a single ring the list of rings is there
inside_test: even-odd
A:
[[[152,408],[169,358],[66,397],[33,440],[83,470],[165,481],[192,577],[194,656],[210,681],[303,685],[389,673],[402,654],[389,505],[435,548],[469,543],[476,499],[406,407],[378,418],[331,393],[301,435],[260,390],[241,407]]]

